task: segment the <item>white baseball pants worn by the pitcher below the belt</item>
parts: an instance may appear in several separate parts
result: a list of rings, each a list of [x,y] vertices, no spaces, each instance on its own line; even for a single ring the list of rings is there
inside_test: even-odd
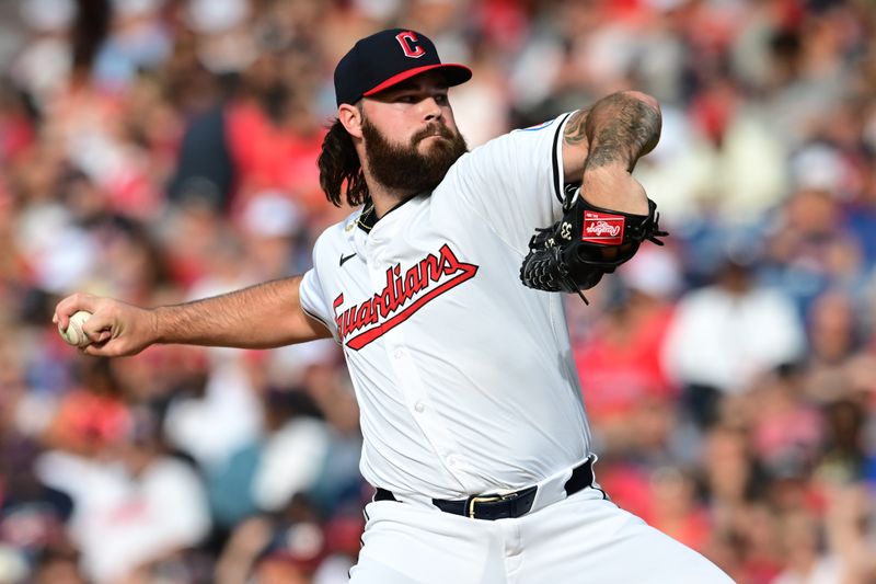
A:
[[[353,584],[733,583],[592,488],[494,522],[395,501],[366,516]]]

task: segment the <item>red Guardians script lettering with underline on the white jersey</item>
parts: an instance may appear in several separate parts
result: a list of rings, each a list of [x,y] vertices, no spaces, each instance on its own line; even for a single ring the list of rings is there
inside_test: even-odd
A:
[[[408,268],[404,275],[401,274],[401,264],[388,268],[387,286],[379,294],[360,305],[354,305],[339,314],[337,309],[344,304],[344,295],[339,294],[335,298],[332,302],[332,307],[335,309],[335,322],[348,347],[359,351],[411,318],[426,304],[456,288],[466,279],[471,279],[477,273],[479,266],[460,262],[449,245],[441,245],[439,253],[440,256],[428,254]],[[450,279],[438,284],[442,276],[451,275]],[[426,290],[436,284],[438,284],[437,287],[429,289],[405,306],[416,293]],[[395,314],[390,317],[393,313]],[[380,318],[387,320],[379,323]],[[351,333],[369,324],[374,324],[374,327],[347,340]]]

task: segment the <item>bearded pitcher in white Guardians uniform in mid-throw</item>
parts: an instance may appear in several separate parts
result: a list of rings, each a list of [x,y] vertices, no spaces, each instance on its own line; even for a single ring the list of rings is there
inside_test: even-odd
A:
[[[448,90],[471,75],[415,31],[360,39],[319,160],[328,199],[359,208],[310,271],[151,309],[78,294],[56,322],[91,312],[95,356],[333,336],[376,490],[351,582],[730,582],[599,488],[558,294],[666,234],[631,175],[659,105],[615,93],[468,151]]]

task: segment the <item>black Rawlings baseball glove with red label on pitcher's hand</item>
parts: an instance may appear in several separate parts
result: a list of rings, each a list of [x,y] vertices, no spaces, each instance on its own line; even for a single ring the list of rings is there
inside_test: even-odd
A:
[[[647,215],[631,215],[590,205],[580,188],[567,187],[563,218],[537,229],[520,279],[537,290],[577,293],[592,288],[638,251],[639,244],[668,236],[657,225],[657,205],[648,199]]]

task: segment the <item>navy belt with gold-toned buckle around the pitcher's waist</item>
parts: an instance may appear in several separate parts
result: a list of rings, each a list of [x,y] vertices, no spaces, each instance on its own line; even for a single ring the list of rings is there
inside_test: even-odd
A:
[[[566,496],[569,496],[592,484],[593,462],[588,458],[572,470],[572,477],[569,477],[563,488],[566,491]],[[433,499],[431,502],[445,513],[492,522],[526,515],[532,508],[537,492],[538,486],[528,486],[512,493],[472,495],[469,499],[460,500]],[[395,495],[390,491],[378,488],[374,493],[374,501],[399,500],[395,499]]]

